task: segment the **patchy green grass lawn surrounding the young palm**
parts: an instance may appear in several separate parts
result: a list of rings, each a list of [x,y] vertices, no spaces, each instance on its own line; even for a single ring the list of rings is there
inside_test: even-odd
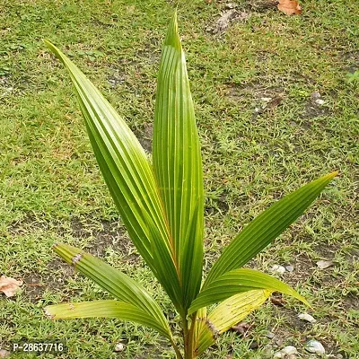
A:
[[[50,39],[73,57],[150,150],[170,3],[0,5],[0,272],[24,281],[16,297],[0,297],[5,349],[24,338],[59,338],[70,352],[57,358],[173,357],[151,329],[117,320],[53,322],[42,311],[50,303],[106,296],[55,257],[50,247],[61,240],[136,277],[176,325],[165,293],[118,221],[67,74],[41,42]],[[282,277],[312,303],[317,323],[296,318],[308,311],[301,303],[268,302],[249,318],[255,325],[250,337],[224,335],[206,357],[264,358],[293,345],[306,358],[303,344],[316,338],[327,354],[359,358],[359,83],[347,75],[359,66],[357,6],[307,0],[301,16],[288,17],[264,1],[241,0],[238,10],[250,17],[215,35],[207,28],[225,4],[186,0],[179,6],[205,166],[206,266],[277,198],[329,171],[340,176],[250,263],[265,271],[292,264],[293,272]],[[320,92],[323,105],[311,100],[312,92]],[[261,99],[269,97],[281,101],[263,109]],[[320,270],[320,259],[335,266]],[[267,338],[268,330],[276,337]],[[119,340],[125,350],[113,353]]]

